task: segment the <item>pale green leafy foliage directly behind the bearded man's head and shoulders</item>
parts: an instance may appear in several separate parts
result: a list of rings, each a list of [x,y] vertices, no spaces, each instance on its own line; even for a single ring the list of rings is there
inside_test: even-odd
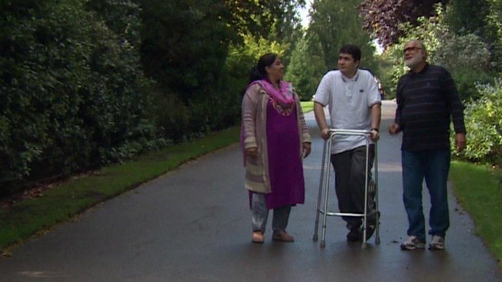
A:
[[[406,35],[387,48],[385,56],[392,65],[390,93],[395,94],[397,81],[408,71],[403,59],[404,45],[419,39],[427,48],[428,62],[444,66],[452,73],[462,99],[477,98],[475,83],[492,82],[488,46],[475,34],[453,32],[445,22],[441,6],[436,8],[436,16],[419,18],[417,26],[403,24],[401,29]]]

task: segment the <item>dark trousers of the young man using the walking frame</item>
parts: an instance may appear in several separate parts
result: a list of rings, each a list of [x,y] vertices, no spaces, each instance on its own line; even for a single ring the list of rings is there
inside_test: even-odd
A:
[[[368,181],[375,156],[374,145],[369,146]],[[366,146],[360,146],[342,153],[331,155],[335,170],[335,190],[338,209],[342,213],[364,213],[364,189],[366,168]],[[363,222],[360,217],[342,217],[349,230],[358,228]]]

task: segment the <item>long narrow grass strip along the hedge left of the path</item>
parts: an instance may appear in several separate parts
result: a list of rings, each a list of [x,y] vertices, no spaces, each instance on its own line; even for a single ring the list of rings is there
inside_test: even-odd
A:
[[[240,127],[231,127],[190,143],[166,147],[122,164],[74,177],[44,192],[0,210],[0,249],[44,232],[106,199],[165,174],[180,164],[214,149],[238,142]],[[8,250],[6,253],[8,255]]]

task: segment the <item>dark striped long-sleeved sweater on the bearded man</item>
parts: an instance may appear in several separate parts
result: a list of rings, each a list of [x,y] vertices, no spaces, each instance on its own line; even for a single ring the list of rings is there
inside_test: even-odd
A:
[[[403,130],[406,151],[450,148],[450,121],[455,133],[465,133],[463,106],[450,73],[426,65],[408,72],[397,87],[396,123]],[[450,118],[452,117],[452,118]]]

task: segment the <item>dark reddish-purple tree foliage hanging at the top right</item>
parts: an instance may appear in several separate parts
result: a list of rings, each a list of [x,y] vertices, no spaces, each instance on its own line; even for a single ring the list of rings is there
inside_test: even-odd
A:
[[[364,28],[378,39],[383,47],[397,43],[403,35],[400,24],[417,24],[420,16],[433,16],[434,4],[448,0],[365,0],[359,7]]]

